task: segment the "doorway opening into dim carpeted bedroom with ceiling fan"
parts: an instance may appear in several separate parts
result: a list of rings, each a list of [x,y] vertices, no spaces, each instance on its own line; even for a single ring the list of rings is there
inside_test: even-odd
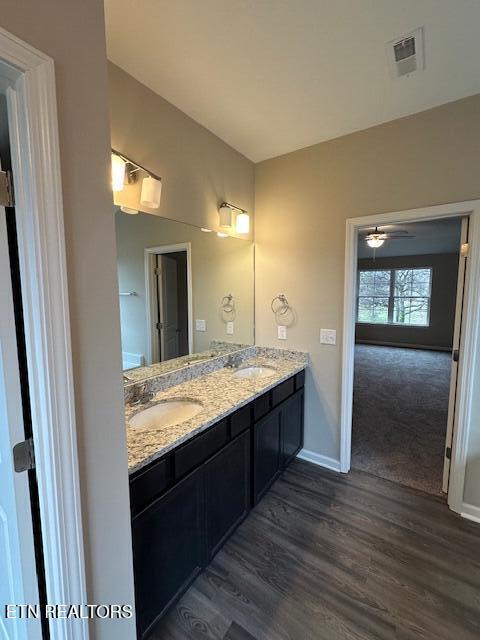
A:
[[[352,467],[434,495],[448,491],[467,234],[465,217],[358,235]]]

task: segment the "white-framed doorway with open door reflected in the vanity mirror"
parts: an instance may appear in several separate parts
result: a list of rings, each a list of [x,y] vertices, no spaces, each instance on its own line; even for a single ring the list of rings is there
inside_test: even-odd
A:
[[[145,250],[149,363],[192,353],[190,243]]]

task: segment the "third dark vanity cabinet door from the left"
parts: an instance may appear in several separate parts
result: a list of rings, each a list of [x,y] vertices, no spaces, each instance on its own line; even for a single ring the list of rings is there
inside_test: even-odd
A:
[[[254,425],[254,502],[280,472],[280,411],[274,409]]]

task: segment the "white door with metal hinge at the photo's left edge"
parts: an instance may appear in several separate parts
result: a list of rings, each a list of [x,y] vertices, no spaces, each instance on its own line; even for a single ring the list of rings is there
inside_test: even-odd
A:
[[[16,473],[12,449],[25,439],[5,209],[0,207],[0,637],[41,638],[36,619],[7,619],[5,605],[38,605],[27,473]]]

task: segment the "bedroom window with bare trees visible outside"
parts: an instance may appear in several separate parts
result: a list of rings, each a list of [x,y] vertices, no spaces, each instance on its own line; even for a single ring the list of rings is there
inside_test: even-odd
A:
[[[430,267],[359,271],[357,321],[428,326],[431,285]]]

